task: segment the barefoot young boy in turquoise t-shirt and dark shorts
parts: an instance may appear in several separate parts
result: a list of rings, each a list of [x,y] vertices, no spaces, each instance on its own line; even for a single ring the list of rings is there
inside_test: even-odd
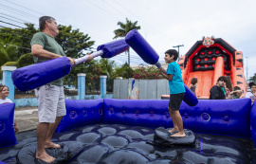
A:
[[[167,72],[162,67],[159,69],[159,72],[169,81],[170,101],[168,110],[174,123],[174,128],[169,132],[175,133],[171,137],[186,137],[183,130],[183,120],[179,113],[179,107],[185,95],[185,87],[183,85],[180,67],[175,62],[177,58],[178,53],[176,50],[167,50],[164,58],[166,64],[168,64]]]

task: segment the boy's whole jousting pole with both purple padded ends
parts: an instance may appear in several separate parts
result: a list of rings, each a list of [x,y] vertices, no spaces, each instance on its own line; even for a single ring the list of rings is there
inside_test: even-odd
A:
[[[145,63],[155,64],[158,68],[161,67],[161,64],[158,63],[159,56],[155,52],[155,49],[139,34],[137,29],[128,32],[125,36],[125,41],[137,52]],[[163,70],[163,68],[161,68],[161,70]],[[196,105],[198,103],[197,98],[187,85],[184,84],[184,87],[186,93],[183,100],[190,106]]]

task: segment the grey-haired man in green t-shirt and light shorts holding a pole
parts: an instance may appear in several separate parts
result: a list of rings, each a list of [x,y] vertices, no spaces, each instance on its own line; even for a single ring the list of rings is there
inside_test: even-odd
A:
[[[59,34],[55,19],[43,16],[39,19],[39,26],[42,32],[37,32],[30,43],[34,62],[41,63],[65,56],[62,46],[55,41]],[[71,65],[75,64],[74,59],[67,58]],[[88,62],[92,59],[93,57],[88,56]],[[36,158],[51,163],[55,158],[46,154],[46,148],[61,148],[59,144],[51,142],[51,137],[66,114],[63,78],[35,89],[35,95],[39,102]]]

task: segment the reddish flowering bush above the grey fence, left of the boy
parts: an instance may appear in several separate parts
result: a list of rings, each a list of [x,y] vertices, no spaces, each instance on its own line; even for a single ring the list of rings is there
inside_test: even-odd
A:
[[[140,66],[132,72],[132,75],[135,79],[162,79],[162,75],[155,66],[149,66],[148,68]]]

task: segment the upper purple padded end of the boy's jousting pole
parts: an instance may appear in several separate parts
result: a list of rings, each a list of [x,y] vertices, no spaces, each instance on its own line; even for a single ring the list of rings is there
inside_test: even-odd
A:
[[[131,46],[137,54],[147,64],[156,64],[159,56],[155,49],[138,33],[137,29],[133,29],[125,36],[125,41]]]

